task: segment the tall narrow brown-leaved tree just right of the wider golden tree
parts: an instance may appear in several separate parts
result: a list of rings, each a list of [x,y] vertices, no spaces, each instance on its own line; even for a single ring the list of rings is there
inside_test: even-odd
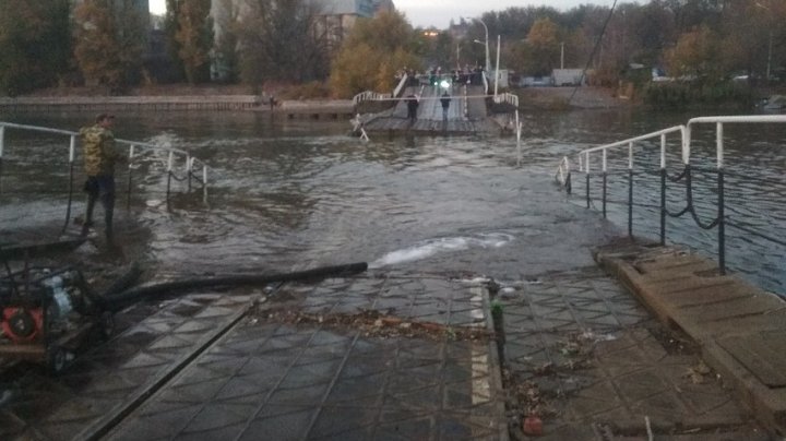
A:
[[[211,0],[190,0],[178,4],[178,57],[190,84],[210,80],[210,53],[213,49]]]

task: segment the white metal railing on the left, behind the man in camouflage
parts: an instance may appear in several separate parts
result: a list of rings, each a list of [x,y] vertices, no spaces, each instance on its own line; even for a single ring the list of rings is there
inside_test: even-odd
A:
[[[71,219],[71,207],[73,203],[73,195],[74,195],[74,176],[75,176],[75,169],[78,167],[75,163],[76,158],[76,139],[79,136],[78,132],[72,132],[68,130],[60,130],[60,129],[51,129],[51,128],[45,128],[45,127],[37,127],[37,126],[26,126],[26,124],[16,124],[11,122],[3,122],[0,121],[0,183],[2,182],[3,178],[3,162],[4,162],[4,154],[7,151],[5,145],[5,131],[7,129],[11,130],[22,130],[22,131],[32,131],[37,133],[49,133],[49,134],[56,134],[56,135],[63,135],[69,138],[69,147],[68,147],[68,167],[69,167],[69,186],[68,186],[68,205],[67,205],[67,212],[66,212],[66,223],[63,226],[63,230],[68,226],[70,219]],[[134,159],[139,158],[141,151],[152,151],[152,152],[163,152],[166,154],[166,175],[167,175],[167,183],[166,183],[166,198],[169,199],[169,195],[171,193],[171,181],[187,181],[187,191],[190,192],[192,189],[192,182],[196,181],[202,186],[202,192],[203,192],[203,199],[206,201],[207,199],[207,165],[199,160],[198,158],[191,156],[188,152],[178,150],[178,148],[171,148],[171,147],[162,147],[159,145],[150,144],[150,143],[143,143],[143,142],[136,142],[136,141],[128,141],[128,140],[115,140],[116,144],[123,145],[128,148],[128,193],[127,193],[127,206],[130,206],[131,204],[131,193],[133,188],[133,167],[134,167]],[[178,165],[178,163],[182,164],[181,166]],[[201,165],[201,172],[194,172],[194,167],[199,163]],[[178,175],[176,170],[182,167],[182,175]],[[2,186],[0,186],[0,191],[2,190]]]

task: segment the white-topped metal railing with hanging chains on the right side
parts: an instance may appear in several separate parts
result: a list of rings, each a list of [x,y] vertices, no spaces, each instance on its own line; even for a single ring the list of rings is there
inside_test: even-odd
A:
[[[600,145],[593,148],[583,150],[577,154],[579,159],[579,171],[585,174],[586,180],[586,206],[587,208],[592,205],[591,194],[591,177],[594,176],[594,170],[599,168],[599,175],[602,177],[602,212],[603,216],[607,216],[607,202],[608,202],[608,187],[607,177],[611,171],[609,170],[608,156],[610,153],[616,153],[620,148],[627,148],[628,160],[627,160],[627,175],[628,175],[628,235],[633,237],[633,206],[636,205],[636,201],[633,199],[633,177],[638,172],[634,162],[635,148],[644,145],[647,141],[653,139],[659,139],[659,177],[660,177],[660,194],[659,194],[659,239],[660,245],[666,243],[666,218],[668,217],[681,217],[683,215],[690,215],[694,221],[695,225],[701,229],[710,230],[717,228],[717,253],[718,253],[718,270],[720,274],[726,273],[726,226],[735,226],[748,234],[755,235],[770,242],[786,246],[786,241],[755,231],[754,229],[747,228],[741,224],[730,223],[726,216],[726,199],[725,199],[725,166],[724,166],[724,124],[750,124],[750,123],[786,123],[786,115],[766,115],[766,116],[731,116],[731,117],[701,117],[690,119],[684,126],[676,126],[668,129],[659,130],[657,132],[647,133],[641,136],[630,138],[623,141],[618,141],[611,144]],[[716,174],[716,201],[715,201],[715,216],[710,221],[702,221],[696,213],[694,203],[694,188],[693,177],[691,169],[691,133],[693,128],[699,124],[715,124],[715,168],[712,170]],[[680,159],[682,169],[676,176],[669,176],[667,172],[667,135],[679,134],[679,148]],[[639,144],[639,145],[638,145]],[[698,159],[698,158],[693,158]],[[598,165],[599,163],[599,165]],[[643,169],[643,167],[640,167]],[[565,188],[570,193],[572,190],[571,186],[571,169],[568,157],[563,157],[556,171],[555,179]],[[684,182],[684,196],[682,202],[684,206],[678,211],[670,211],[666,205],[666,190],[668,182]]]

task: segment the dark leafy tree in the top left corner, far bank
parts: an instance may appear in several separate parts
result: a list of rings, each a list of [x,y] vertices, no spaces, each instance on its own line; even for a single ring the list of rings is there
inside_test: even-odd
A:
[[[0,0],[0,90],[9,95],[57,84],[71,52],[68,0]]]

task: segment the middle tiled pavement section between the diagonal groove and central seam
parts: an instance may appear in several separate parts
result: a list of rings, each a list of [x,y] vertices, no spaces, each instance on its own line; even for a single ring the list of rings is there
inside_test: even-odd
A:
[[[478,288],[438,278],[329,279],[285,285],[273,298],[305,312],[377,309],[404,321],[487,325]],[[371,337],[265,319],[245,319],[109,438],[507,439],[489,342]]]

